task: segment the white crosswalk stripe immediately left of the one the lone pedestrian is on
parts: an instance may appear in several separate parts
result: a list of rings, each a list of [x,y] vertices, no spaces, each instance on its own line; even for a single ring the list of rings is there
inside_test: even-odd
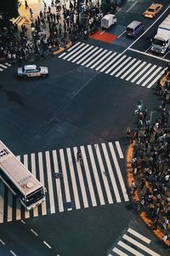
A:
[[[76,182],[76,177],[75,177],[73,160],[71,158],[71,148],[66,148],[66,152],[67,152],[67,158],[68,158],[68,163],[69,163],[69,168],[70,168],[70,173],[71,173],[71,183],[72,183],[75,204],[76,204],[76,208],[80,209],[81,207],[80,207],[80,201],[79,201],[79,197],[78,197],[77,182]]]

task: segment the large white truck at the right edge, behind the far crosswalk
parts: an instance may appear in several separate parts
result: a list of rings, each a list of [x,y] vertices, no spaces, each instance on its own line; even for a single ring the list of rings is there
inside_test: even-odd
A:
[[[165,54],[170,48],[170,15],[158,26],[156,36],[151,41],[151,50],[156,53]]]

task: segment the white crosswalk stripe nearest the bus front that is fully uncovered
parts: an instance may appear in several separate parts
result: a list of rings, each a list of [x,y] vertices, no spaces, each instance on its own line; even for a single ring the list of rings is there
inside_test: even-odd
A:
[[[49,195],[49,204],[50,204],[50,212],[55,212],[55,205],[54,205],[54,189],[53,189],[53,182],[51,176],[51,163],[49,158],[49,151],[45,151],[45,158],[46,158],[46,168],[47,168],[47,175],[48,175],[48,195]]]

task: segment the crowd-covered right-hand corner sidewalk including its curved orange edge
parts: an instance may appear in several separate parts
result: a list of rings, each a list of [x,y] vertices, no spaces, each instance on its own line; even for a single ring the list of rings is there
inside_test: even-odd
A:
[[[170,246],[170,128],[164,121],[151,127],[127,148],[127,182],[144,223]]]

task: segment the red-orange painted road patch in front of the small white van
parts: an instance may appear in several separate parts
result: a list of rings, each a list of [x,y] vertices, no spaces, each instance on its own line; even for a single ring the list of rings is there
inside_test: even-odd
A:
[[[90,35],[89,38],[99,40],[108,44],[112,44],[113,41],[116,40],[117,36],[105,31],[104,32],[97,31],[97,32],[94,32],[93,35]]]

